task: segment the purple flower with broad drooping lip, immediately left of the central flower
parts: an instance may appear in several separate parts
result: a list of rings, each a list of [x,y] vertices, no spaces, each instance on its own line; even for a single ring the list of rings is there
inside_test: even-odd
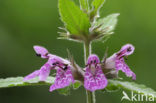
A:
[[[71,66],[69,64],[59,60],[59,58],[53,58],[51,61],[53,62],[53,67],[57,70],[55,82],[50,87],[51,92],[55,89],[69,86],[71,83],[75,82],[72,75]]]

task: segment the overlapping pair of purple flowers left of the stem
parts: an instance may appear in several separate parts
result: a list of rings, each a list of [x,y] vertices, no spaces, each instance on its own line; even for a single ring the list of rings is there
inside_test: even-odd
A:
[[[48,50],[41,46],[34,46],[34,50],[37,56],[46,58],[48,61],[41,67],[40,70],[36,70],[33,73],[27,75],[24,81],[39,77],[40,81],[45,81],[50,74],[50,70],[55,69],[57,71],[54,84],[50,87],[50,91],[55,89],[64,88],[71,83],[74,83],[72,76],[70,62],[66,59],[58,57],[56,55],[49,54]]]

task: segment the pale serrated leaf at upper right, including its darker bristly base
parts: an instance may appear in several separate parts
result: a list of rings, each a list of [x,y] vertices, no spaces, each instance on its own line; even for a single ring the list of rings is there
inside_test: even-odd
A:
[[[116,27],[118,16],[119,14],[115,13],[95,21],[95,23],[91,27],[91,30],[93,32],[90,36],[91,40],[102,42],[107,41],[114,33],[113,30]]]

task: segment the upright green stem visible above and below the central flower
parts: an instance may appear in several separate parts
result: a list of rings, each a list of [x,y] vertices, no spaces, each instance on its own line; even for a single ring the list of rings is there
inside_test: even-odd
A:
[[[90,42],[85,42],[84,43],[84,60],[85,63],[87,63],[87,59],[89,55],[91,54],[91,43]],[[87,95],[87,103],[95,103],[95,93],[90,92],[86,90],[86,95]]]

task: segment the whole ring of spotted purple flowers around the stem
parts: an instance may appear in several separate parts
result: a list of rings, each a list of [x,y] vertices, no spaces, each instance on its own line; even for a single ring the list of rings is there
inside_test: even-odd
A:
[[[82,82],[84,87],[89,91],[104,89],[108,84],[107,79],[109,79],[108,73],[105,73],[105,70],[109,70],[111,75],[118,75],[118,71],[121,70],[128,77],[132,77],[133,80],[136,79],[135,73],[133,73],[124,62],[124,57],[134,52],[134,46],[131,44],[124,45],[119,52],[114,53],[102,62],[97,55],[91,54],[88,57],[84,69],[80,68],[77,64],[73,65],[73,63],[67,59],[50,54],[44,47],[34,46],[34,50],[37,56],[48,61],[39,70],[27,75],[24,81],[26,82],[37,76],[40,81],[45,81],[50,71],[56,70],[55,82],[50,87],[50,91],[67,87],[71,83],[74,83],[75,80]]]

